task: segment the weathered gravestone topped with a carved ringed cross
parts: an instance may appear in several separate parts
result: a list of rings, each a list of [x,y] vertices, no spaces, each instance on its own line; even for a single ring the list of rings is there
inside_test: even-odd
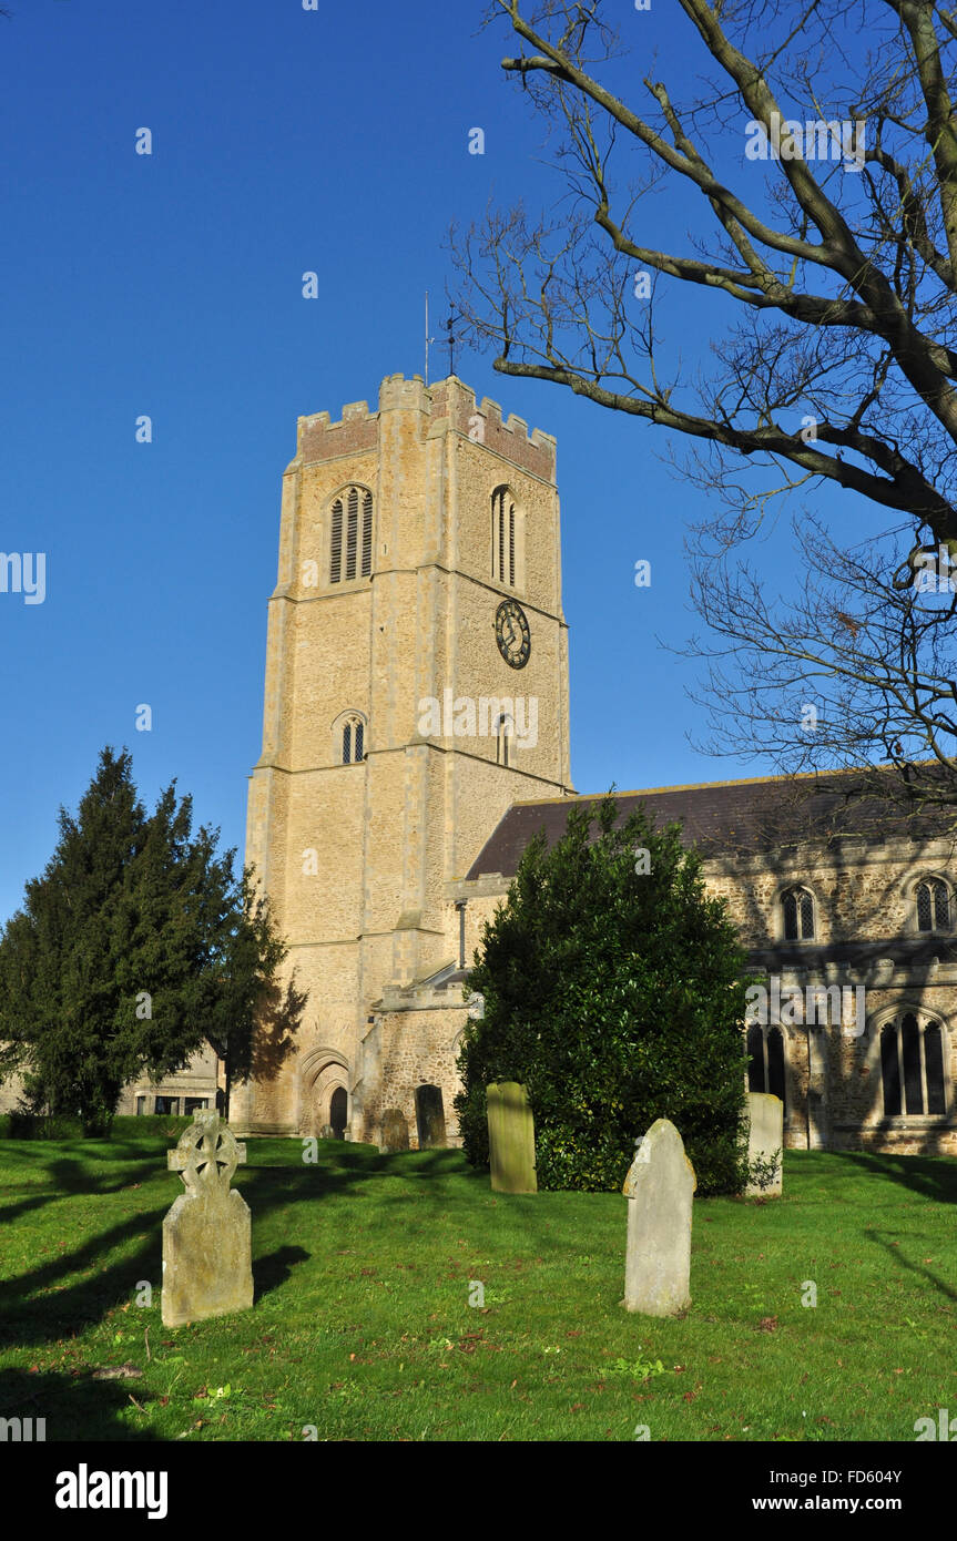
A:
[[[230,1188],[247,1148],[219,1113],[199,1110],[168,1151],[186,1187],[163,1220],[163,1327],[248,1311],[253,1305],[251,1217]]]

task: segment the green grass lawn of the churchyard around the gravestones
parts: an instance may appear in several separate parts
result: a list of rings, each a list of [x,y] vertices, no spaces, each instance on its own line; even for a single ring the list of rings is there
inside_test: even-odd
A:
[[[618,1304],[620,1194],[250,1140],[254,1310],[166,1330],[173,1143],[0,1140],[0,1416],[48,1441],[914,1441],[957,1412],[955,1160],[795,1151],[784,1199],[695,1202],[693,1304],[656,1321]],[[120,1365],[142,1375],[94,1379]]]

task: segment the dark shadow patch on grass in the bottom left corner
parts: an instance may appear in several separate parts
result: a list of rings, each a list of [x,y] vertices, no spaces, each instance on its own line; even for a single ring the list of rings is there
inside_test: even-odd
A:
[[[143,1393],[137,1401],[143,1401]],[[0,1418],[6,1418],[6,1445],[20,1435],[32,1444],[86,1439],[154,1441],[149,1429],[134,1429],[120,1418],[129,1407],[129,1392],[112,1381],[94,1381],[48,1370],[0,1370]],[[20,1419],[11,1427],[9,1419]],[[28,1425],[25,1419],[31,1419]],[[39,1427],[37,1419],[43,1419]],[[5,1447],[6,1458],[12,1450]]]

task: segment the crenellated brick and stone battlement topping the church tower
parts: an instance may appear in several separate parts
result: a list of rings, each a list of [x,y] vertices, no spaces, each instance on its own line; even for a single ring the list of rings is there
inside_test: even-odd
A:
[[[376,411],[368,410],[368,402],[354,401],[344,405],[336,422],[328,411],[299,418],[296,458],[301,462],[327,461],[337,455],[374,450],[379,419],[387,411],[418,411],[422,418],[422,438],[442,431],[461,433],[533,476],[555,481],[555,438],[541,428],[529,433],[529,424],[515,413],[502,422],[501,405],[489,396],[476,407],[475,391],[456,374],[448,374],[435,385],[425,385],[421,374],[410,379],[388,374],[379,387]]]

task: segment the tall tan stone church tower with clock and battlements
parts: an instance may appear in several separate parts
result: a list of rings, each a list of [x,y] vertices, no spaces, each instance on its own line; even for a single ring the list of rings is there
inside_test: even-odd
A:
[[[572,791],[567,680],[555,439],[455,376],[299,419],[247,861],[308,1002],[236,1123],[378,1142],[395,1108],[415,1143],[438,1088],[455,1137],[450,888],[513,803]]]

